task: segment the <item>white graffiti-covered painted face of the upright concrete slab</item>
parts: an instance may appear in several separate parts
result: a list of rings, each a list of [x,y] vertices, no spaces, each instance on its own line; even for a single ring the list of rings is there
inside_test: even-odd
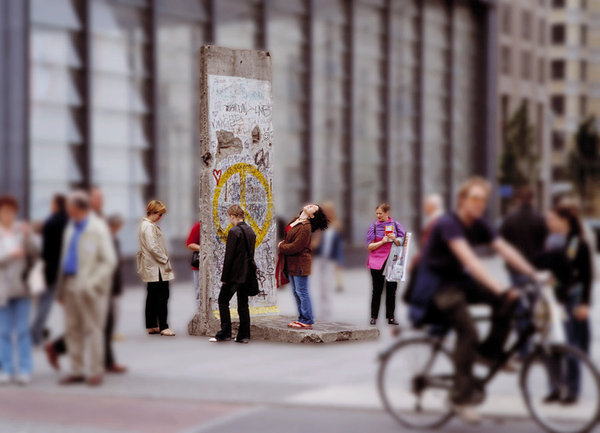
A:
[[[276,308],[275,224],[273,222],[272,98],[269,81],[208,76],[210,150],[202,160],[212,171],[212,290],[216,310],[225,241],[227,208],[239,204],[256,233],[256,264],[262,293],[251,299],[254,313]]]

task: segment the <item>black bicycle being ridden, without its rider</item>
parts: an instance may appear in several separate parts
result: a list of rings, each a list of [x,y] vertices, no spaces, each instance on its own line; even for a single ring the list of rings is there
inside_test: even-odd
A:
[[[476,375],[481,389],[516,353],[529,347],[519,377],[529,414],[551,433],[588,432],[600,419],[600,374],[585,353],[564,344],[561,311],[553,289],[537,283],[521,289],[521,299],[527,306],[515,319],[525,317],[528,325],[486,375]],[[475,320],[490,321],[491,317]],[[438,428],[454,416],[449,405],[454,366],[451,352],[444,345],[448,334],[401,339],[380,354],[379,395],[385,409],[405,427]],[[557,368],[564,369],[567,362],[579,363],[579,399],[572,405],[545,402],[551,381],[557,380]]]

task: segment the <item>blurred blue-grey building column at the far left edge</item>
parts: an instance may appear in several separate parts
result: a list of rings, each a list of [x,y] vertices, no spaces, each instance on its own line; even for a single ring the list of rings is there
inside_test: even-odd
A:
[[[29,210],[29,1],[0,0],[0,194]]]

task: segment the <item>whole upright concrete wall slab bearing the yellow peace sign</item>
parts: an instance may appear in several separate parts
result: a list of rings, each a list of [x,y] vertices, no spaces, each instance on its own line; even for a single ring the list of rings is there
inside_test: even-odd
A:
[[[227,208],[239,204],[257,236],[255,260],[262,293],[253,315],[277,314],[273,205],[271,57],[254,50],[204,46],[200,52],[199,170],[200,309],[192,335],[211,334],[225,242]],[[235,300],[231,302],[235,309]]]

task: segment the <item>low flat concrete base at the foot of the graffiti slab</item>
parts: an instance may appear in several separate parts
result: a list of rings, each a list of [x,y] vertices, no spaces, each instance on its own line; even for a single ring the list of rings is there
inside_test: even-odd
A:
[[[297,320],[292,316],[258,316],[252,317],[250,334],[253,340],[267,340],[279,343],[334,343],[336,341],[367,341],[379,338],[379,329],[374,326],[358,327],[340,322],[318,322],[313,329],[300,330],[288,328],[288,323]],[[233,337],[237,333],[239,323],[233,321]],[[189,327],[197,326],[194,320]],[[219,330],[218,324],[211,333]],[[198,335],[190,328],[190,334]]]

